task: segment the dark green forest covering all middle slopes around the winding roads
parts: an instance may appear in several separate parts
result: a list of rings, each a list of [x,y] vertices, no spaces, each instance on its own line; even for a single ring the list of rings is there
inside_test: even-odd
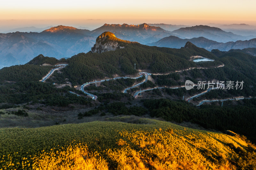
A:
[[[136,54],[136,55],[135,55]],[[189,61],[191,55],[202,55],[212,58],[214,62],[194,63]],[[196,101],[213,98],[229,98],[233,96],[256,96],[256,57],[244,53],[240,50],[231,50],[229,52],[209,52],[197,48],[191,43],[186,44],[184,48],[158,48],[148,47],[139,43],[128,44],[127,48],[108,51],[101,54],[80,53],[67,60],[61,60],[68,63],[61,72],[55,72],[53,79],[48,83],[39,82],[53,67],[39,66],[42,63],[56,64],[60,60],[54,58],[38,56],[28,64],[12,66],[0,70],[0,105],[1,108],[15,107],[17,104],[41,103],[45,106],[67,107],[69,104],[77,103],[81,105],[91,105],[91,100],[83,96],[77,97],[68,91],[80,93],[80,91],[68,86],[56,88],[53,82],[70,81],[72,85],[84,84],[95,79],[106,77],[135,76],[139,73],[137,70],[148,70],[152,73],[167,73],[175,70],[184,70],[189,67],[210,67],[209,69],[193,69],[181,71],[166,75],[152,75],[153,80],[140,85],[130,92],[140,88],[153,88],[156,86],[181,86],[185,80],[191,80],[196,83],[202,81],[244,81],[242,90],[212,90],[201,97],[194,99]],[[136,70],[134,70],[136,63]],[[224,67],[212,68],[225,64]],[[223,107],[214,105],[202,105],[199,108],[185,101],[171,101],[169,99],[145,99],[142,100],[140,107],[129,106],[133,102],[131,94],[124,94],[122,91],[135,83],[143,81],[145,77],[134,79],[116,79],[102,82],[100,86],[94,85],[85,87],[85,90],[92,91],[98,96],[98,107],[92,111],[81,113],[79,117],[90,116],[93,114],[112,113],[114,115],[145,115],[152,117],[161,117],[167,121],[175,122],[194,122],[205,128],[215,130],[232,130],[243,134],[252,141],[255,139],[255,120],[256,104],[255,100],[243,100],[242,104],[229,105],[224,102]],[[7,82],[11,81],[11,82]],[[50,83],[49,83],[50,82]],[[108,92],[108,90],[110,90]],[[115,92],[113,92],[115,91]],[[183,95],[193,95],[202,92],[202,90],[192,89],[187,91],[185,88],[163,90],[154,90],[156,95],[161,96],[161,92],[182,98]],[[116,103],[113,101],[124,101]],[[139,102],[139,101],[138,101]],[[4,104],[3,104],[4,103]],[[143,107],[142,107],[143,105]],[[26,113],[19,111],[13,114]]]

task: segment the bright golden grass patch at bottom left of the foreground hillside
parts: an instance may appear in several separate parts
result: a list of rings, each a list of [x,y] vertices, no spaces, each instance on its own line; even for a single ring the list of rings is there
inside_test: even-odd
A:
[[[53,148],[32,158],[35,170],[107,170],[108,166],[97,152],[92,155],[84,144],[69,145],[67,148]],[[97,157],[97,158],[96,158]]]

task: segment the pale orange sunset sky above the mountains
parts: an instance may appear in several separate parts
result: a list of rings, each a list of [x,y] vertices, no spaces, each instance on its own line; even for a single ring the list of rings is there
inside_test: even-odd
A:
[[[256,25],[255,0],[1,0],[0,30],[165,23]]]

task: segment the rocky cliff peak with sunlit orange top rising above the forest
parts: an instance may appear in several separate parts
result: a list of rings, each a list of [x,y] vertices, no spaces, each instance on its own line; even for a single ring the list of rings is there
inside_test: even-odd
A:
[[[92,53],[102,53],[105,51],[114,51],[116,49],[124,48],[124,44],[119,43],[119,39],[113,33],[102,33],[92,47]]]

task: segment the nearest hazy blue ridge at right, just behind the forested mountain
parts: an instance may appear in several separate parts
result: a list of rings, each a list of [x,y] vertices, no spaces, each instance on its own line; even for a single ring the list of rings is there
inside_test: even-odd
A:
[[[149,46],[168,47],[168,48],[181,48],[186,42],[192,42],[197,47],[205,48],[208,51],[212,49],[219,49],[220,51],[229,51],[230,49],[244,49],[244,48],[256,48],[256,39],[245,41],[230,41],[226,43],[212,41],[204,37],[192,38],[192,39],[180,39],[179,37],[169,36],[159,41],[148,43]]]

